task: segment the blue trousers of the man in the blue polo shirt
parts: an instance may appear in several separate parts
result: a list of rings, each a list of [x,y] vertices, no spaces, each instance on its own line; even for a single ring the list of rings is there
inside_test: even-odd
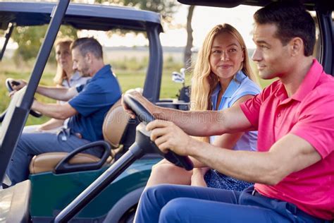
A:
[[[59,133],[23,133],[11,157],[6,174],[12,185],[25,181],[29,176],[29,164],[33,156],[44,152],[72,152],[89,143],[89,140],[78,138],[69,131]],[[89,152],[95,155],[94,152]]]

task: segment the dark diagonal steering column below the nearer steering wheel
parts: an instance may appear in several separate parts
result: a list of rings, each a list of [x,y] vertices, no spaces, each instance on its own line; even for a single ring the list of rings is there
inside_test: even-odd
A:
[[[83,207],[85,207],[92,199],[101,193],[106,186],[117,178],[125,169],[127,169],[138,156],[142,156],[141,148],[137,143],[132,144],[128,152],[120,157],[109,169],[106,169],[98,179],[91,183],[85,191],[82,191],[75,200],[67,205],[54,219],[54,222],[68,222]]]

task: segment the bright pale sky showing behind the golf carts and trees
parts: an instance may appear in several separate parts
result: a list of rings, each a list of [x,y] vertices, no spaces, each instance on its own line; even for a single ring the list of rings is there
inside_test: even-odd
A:
[[[189,6],[180,5],[178,12],[173,16],[173,26],[174,27],[185,27],[187,22],[187,8]],[[254,43],[252,42],[252,28],[253,19],[252,15],[257,10],[256,7],[249,6],[237,6],[231,10],[230,8],[216,8],[216,7],[205,7],[196,6],[194,8],[194,14],[192,18],[192,29],[194,37],[194,47],[201,47],[204,37],[214,25],[220,23],[229,23],[233,25],[244,37],[247,47],[254,48]],[[164,32],[161,33],[160,39],[161,44],[166,47],[185,47],[187,40],[187,32],[185,28],[168,28],[167,25],[164,26]],[[112,35],[107,37],[105,32],[92,32],[92,31],[82,31],[79,33],[79,37],[94,35],[99,39],[99,41],[107,47],[113,46],[126,46],[132,47],[133,45],[147,45],[148,41],[145,39],[144,35],[134,35],[128,33],[125,37],[120,37],[118,35]],[[3,38],[0,40],[4,41]],[[126,44],[125,44],[126,43]],[[16,44],[10,42],[8,48],[15,48]]]

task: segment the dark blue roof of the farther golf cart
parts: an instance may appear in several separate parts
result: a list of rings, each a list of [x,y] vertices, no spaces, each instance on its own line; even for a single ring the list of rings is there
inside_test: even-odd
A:
[[[16,26],[49,24],[50,14],[56,3],[0,1],[0,29],[6,30],[9,23]],[[104,6],[70,3],[63,18],[63,25],[72,25],[79,30],[147,30],[147,25],[161,27],[160,15],[131,7]],[[162,31],[162,27],[161,27]]]

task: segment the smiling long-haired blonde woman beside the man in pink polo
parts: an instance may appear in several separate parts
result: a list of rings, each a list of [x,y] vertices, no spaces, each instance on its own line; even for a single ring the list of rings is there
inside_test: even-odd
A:
[[[194,65],[191,109],[205,111],[239,106],[261,91],[255,82],[240,33],[231,25],[216,25],[206,35]],[[231,150],[256,150],[257,132],[216,135],[199,140]],[[153,167],[147,186],[175,183],[242,191],[252,184],[214,169],[201,168],[203,164],[193,161],[198,168],[185,171],[163,159]]]

